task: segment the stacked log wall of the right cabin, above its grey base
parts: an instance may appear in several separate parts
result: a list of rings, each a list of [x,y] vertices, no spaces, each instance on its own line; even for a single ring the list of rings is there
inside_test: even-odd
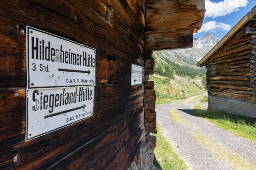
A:
[[[256,102],[256,32],[251,31],[255,27],[255,20],[246,23],[225,48],[207,61],[207,90],[211,96]]]

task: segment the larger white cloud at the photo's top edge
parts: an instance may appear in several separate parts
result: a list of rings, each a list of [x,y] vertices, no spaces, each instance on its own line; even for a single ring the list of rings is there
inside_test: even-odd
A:
[[[205,0],[205,16],[216,18],[219,16],[228,15],[232,12],[236,12],[239,7],[246,7],[248,0],[223,0],[220,2],[211,2]]]

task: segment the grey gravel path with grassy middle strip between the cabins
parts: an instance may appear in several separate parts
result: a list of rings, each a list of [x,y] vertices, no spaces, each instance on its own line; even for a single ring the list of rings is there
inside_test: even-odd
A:
[[[199,100],[200,97],[194,102],[177,105],[184,101],[179,100],[156,107],[157,120],[164,136],[189,170],[256,169],[256,143],[193,115],[190,109]],[[181,122],[170,117],[172,109],[181,116]]]

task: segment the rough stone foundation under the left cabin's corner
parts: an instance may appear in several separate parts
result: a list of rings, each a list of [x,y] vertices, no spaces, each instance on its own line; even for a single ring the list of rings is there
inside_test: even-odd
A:
[[[138,151],[128,170],[159,170],[153,164],[154,149],[146,143]]]

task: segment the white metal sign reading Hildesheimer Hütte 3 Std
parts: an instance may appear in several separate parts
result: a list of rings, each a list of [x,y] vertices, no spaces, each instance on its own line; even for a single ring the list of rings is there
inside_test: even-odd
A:
[[[95,86],[96,50],[26,27],[27,89]]]

